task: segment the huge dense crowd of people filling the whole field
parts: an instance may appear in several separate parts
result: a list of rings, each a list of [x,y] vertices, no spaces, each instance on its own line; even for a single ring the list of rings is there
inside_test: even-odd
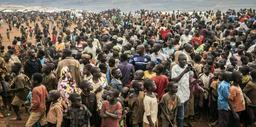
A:
[[[0,118],[25,106],[27,127],[256,123],[255,9],[0,14],[9,41],[21,32],[8,50],[0,39]]]

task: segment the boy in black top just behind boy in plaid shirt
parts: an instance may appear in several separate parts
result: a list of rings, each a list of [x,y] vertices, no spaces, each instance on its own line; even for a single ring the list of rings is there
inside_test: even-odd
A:
[[[91,92],[93,90],[93,86],[88,80],[84,80],[80,83],[80,88],[82,90],[81,98],[82,104],[84,104],[92,116],[90,117],[91,126],[95,126],[99,123],[99,118],[97,115],[97,98],[96,94]]]

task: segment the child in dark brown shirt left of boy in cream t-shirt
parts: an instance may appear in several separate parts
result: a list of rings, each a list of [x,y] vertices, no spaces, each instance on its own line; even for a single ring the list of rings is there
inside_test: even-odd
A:
[[[132,87],[134,88],[134,92],[129,95],[128,101],[128,108],[132,111],[132,126],[143,127],[143,115],[145,110],[143,104],[144,92],[142,82],[135,80],[132,83]]]

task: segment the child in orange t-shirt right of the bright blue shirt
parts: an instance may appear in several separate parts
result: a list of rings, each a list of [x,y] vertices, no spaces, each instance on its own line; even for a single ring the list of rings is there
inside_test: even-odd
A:
[[[233,83],[228,95],[228,126],[239,127],[241,111],[245,110],[245,101],[239,83],[243,82],[243,74],[239,71],[231,73]]]

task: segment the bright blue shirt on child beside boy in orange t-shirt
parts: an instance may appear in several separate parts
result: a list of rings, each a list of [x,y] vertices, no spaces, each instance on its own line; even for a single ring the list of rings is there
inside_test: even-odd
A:
[[[218,110],[224,109],[228,111],[228,94],[229,94],[230,84],[226,81],[221,81],[218,87]]]

